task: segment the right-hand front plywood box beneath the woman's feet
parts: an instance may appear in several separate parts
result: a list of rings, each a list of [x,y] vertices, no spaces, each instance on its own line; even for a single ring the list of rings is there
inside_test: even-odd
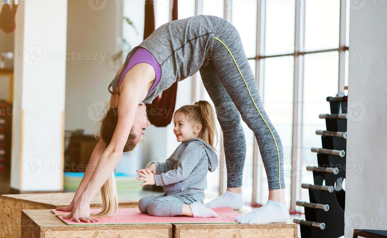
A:
[[[246,214],[249,211],[236,211]],[[174,238],[187,237],[265,237],[265,238],[297,238],[297,224],[267,223],[267,224],[172,224]]]

